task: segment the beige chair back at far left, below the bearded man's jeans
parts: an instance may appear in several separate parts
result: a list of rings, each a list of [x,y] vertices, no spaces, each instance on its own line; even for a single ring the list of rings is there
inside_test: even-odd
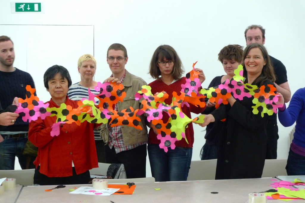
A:
[[[35,169],[0,170],[0,178],[16,178],[17,185],[29,186],[34,183]]]

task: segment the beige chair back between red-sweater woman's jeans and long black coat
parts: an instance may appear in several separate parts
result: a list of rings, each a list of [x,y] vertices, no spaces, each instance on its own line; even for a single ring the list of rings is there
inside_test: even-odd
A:
[[[215,180],[217,159],[192,161],[187,180]]]

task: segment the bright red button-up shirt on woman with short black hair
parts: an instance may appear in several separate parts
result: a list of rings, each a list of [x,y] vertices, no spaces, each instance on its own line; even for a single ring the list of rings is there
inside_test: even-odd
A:
[[[49,107],[59,107],[52,99]],[[77,101],[67,97],[66,105],[77,108]],[[93,128],[100,124],[87,121],[78,126],[75,123],[64,124],[60,127],[58,136],[52,137],[50,132],[56,122],[56,116],[31,121],[28,139],[38,147],[38,156],[34,161],[36,168],[40,164],[39,172],[48,177],[72,176],[72,160],[77,174],[99,167]]]

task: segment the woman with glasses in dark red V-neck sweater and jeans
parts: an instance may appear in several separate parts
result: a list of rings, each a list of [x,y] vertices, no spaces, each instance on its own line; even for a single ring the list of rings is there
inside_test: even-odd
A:
[[[199,68],[196,68],[195,71],[200,72],[199,79],[202,83],[205,80],[203,71]],[[181,84],[186,83],[186,78],[181,77],[183,72],[183,65],[174,48],[169,45],[159,46],[152,56],[149,67],[150,75],[156,79],[149,83],[151,92],[153,94],[166,92],[169,97],[165,100],[165,103],[170,105],[172,103],[173,92],[180,95]],[[204,108],[196,107],[192,104],[189,104],[189,107],[186,105],[182,107],[183,113],[189,118],[191,117],[191,112],[199,114],[203,110]],[[163,113],[163,123],[166,123],[168,118],[169,116]],[[157,182],[185,181],[191,165],[194,143],[192,123],[189,123],[188,128],[185,129],[185,137],[188,143],[182,138],[182,140],[175,142],[175,149],[168,147],[168,152],[160,149],[160,140],[157,139],[155,130],[154,128],[150,129],[149,144],[147,146],[152,176]]]

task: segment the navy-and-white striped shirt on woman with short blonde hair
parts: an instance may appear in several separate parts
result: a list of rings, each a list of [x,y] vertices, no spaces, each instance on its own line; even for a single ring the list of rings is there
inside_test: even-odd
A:
[[[95,91],[95,89],[90,88],[91,93],[99,94],[99,91]],[[81,86],[79,82],[70,86],[68,90],[68,97],[70,100],[81,100],[82,98],[89,98],[88,94],[88,87]],[[99,99],[95,97],[95,104],[99,103]],[[102,140],[101,136],[99,135],[99,130],[94,130],[94,139],[95,140]]]

